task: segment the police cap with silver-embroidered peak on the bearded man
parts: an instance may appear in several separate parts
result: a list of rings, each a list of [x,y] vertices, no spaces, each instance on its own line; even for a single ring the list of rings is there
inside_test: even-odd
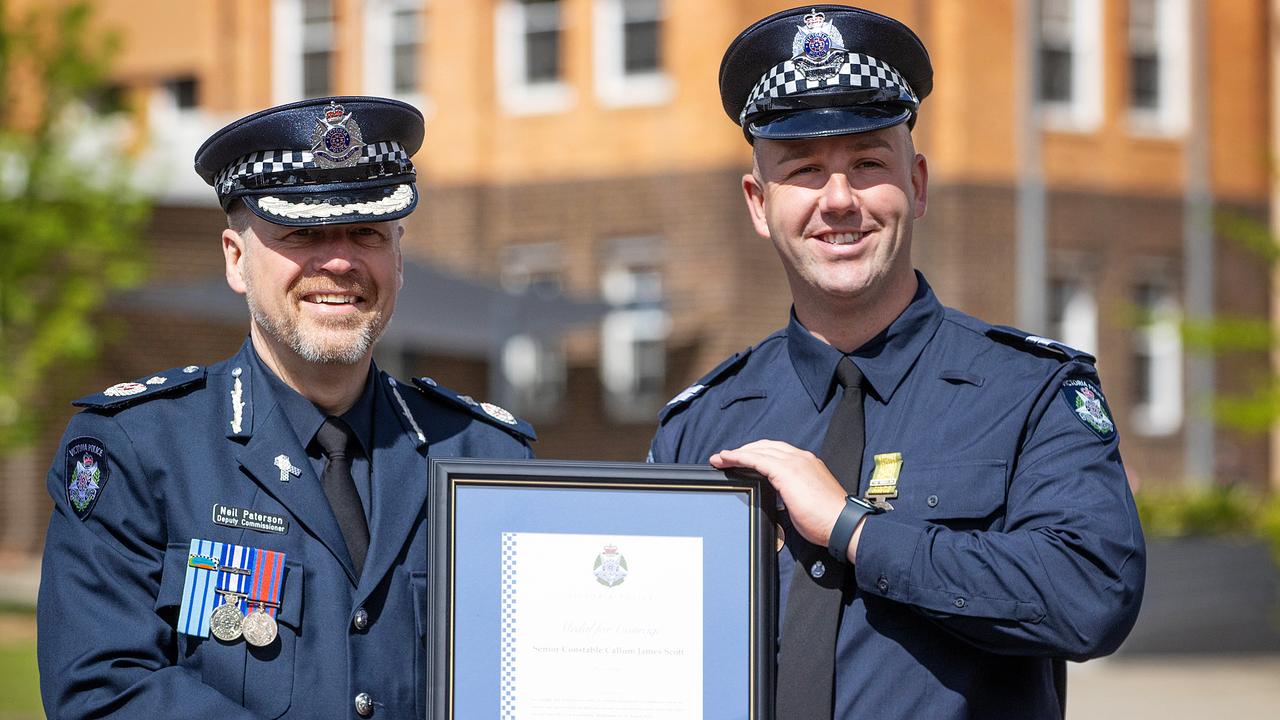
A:
[[[316,97],[215,132],[196,172],[223,209],[243,200],[279,225],[393,220],[413,211],[422,114],[384,97]]]

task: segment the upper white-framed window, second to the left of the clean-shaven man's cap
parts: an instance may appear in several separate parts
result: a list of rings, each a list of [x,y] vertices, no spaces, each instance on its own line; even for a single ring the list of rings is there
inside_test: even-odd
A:
[[[500,0],[495,22],[498,92],[512,114],[568,109],[564,82],[561,0]]]

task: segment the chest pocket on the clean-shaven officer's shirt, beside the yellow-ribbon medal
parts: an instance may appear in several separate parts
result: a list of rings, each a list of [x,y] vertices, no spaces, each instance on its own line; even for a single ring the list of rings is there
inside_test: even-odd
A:
[[[963,460],[911,466],[897,480],[895,512],[952,529],[992,529],[1005,515],[1005,460]]]

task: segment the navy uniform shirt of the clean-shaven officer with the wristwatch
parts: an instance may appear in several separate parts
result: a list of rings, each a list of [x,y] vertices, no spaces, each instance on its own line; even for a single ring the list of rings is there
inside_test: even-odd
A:
[[[877,455],[901,465],[845,593],[835,717],[1061,717],[1064,660],[1120,644],[1146,571],[1093,359],[943,307],[918,279],[851,354],[867,378],[859,493]],[[841,357],[792,315],[663,410],[653,461],[707,462],[762,438],[817,452]],[[785,533],[788,546],[799,534]],[[781,619],[788,548],[778,565]]]

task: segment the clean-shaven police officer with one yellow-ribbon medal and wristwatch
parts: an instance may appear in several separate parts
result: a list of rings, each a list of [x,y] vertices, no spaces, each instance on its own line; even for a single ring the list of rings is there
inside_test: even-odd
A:
[[[778,717],[1029,719],[1112,652],[1144,550],[1093,357],[945,307],[911,266],[920,40],[842,5],[745,29],[719,72],[790,323],[660,414],[658,462],[765,475]]]

